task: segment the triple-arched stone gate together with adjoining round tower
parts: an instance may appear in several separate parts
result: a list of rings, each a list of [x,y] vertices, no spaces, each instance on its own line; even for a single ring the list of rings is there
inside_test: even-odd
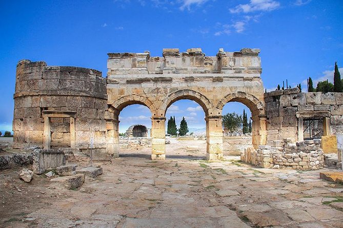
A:
[[[21,60],[14,94],[14,144],[70,147],[93,155],[118,156],[120,111],[142,104],[151,111],[152,159],[165,159],[168,107],[190,99],[205,112],[207,159],[223,157],[221,115],[237,101],[252,113],[252,142],[266,144],[264,86],[258,49],[205,56],[199,48],[164,49],[163,57],[109,53],[107,79],[101,72]]]

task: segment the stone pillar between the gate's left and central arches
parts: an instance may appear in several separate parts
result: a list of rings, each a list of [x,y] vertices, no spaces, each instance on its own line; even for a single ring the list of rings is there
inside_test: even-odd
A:
[[[166,118],[152,117],[151,118],[151,159],[164,160],[166,159]]]

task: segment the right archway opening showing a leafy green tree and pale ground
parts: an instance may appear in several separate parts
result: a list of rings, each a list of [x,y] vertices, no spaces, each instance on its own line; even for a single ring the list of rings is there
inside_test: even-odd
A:
[[[240,155],[244,149],[252,146],[251,111],[240,102],[228,102],[222,111],[223,154]]]

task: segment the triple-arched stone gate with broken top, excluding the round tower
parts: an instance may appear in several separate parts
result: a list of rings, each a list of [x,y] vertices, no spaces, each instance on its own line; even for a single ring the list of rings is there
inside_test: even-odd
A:
[[[166,111],[173,102],[189,99],[205,112],[207,159],[223,157],[221,115],[226,103],[237,101],[252,113],[253,145],[266,144],[264,86],[258,49],[205,56],[199,48],[164,49],[163,57],[145,53],[109,53],[107,61],[107,148],[118,154],[118,116],[131,104],[151,111],[152,159],[165,159]]]

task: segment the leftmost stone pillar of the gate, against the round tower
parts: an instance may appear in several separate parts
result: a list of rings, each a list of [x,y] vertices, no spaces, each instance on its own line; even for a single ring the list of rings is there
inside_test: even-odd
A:
[[[119,157],[119,120],[106,120],[107,153]]]

